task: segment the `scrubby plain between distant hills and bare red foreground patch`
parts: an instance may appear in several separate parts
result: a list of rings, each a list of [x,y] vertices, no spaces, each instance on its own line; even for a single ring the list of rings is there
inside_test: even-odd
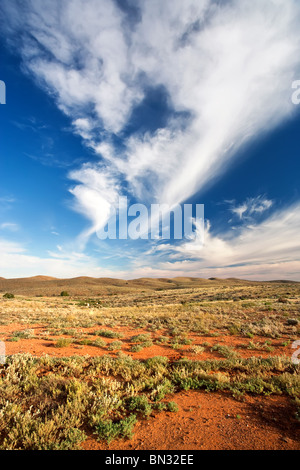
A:
[[[291,419],[299,419],[291,344],[300,337],[300,286],[207,282],[107,290],[101,300],[74,292],[67,301],[57,293],[18,294],[13,302],[3,296],[7,350],[38,353],[8,352],[0,365],[0,448],[80,449],[88,436],[128,439],[137,421],[181,412],[176,394],[188,390],[237,400],[285,395]]]

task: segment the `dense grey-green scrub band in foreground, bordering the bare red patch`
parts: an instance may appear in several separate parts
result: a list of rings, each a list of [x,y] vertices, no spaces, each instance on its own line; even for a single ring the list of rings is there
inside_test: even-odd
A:
[[[0,366],[0,448],[76,449],[85,432],[109,442],[130,437],[137,419],[168,409],[162,401],[180,390],[285,394],[296,404],[299,371],[285,356],[177,362],[124,353],[10,356]]]

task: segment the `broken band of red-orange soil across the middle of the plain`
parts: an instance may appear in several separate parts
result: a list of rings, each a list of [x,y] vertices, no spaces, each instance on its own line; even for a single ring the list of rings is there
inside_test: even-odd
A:
[[[26,325],[24,324],[18,324],[18,323],[11,323],[9,325],[0,325],[0,339],[5,342],[6,346],[6,354],[7,355],[13,355],[13,354],[18,354],[18,353],[29,353],[34,356],[42,356],[42,355],[48,355],[48,356],[57,356],[57,357],[66,357],[66,356],[101,356],[103,354],[112,354],[111,351],[108,351],[106,348],[99,348],[95,346],[89,346],[89,345],[78,345],[78,344],[70,344],[69,346],[58,348],[55,346],[56,341],[59,338],[62,338],[63,336],[50,336],[49,339],[39,339],[39,338],[33,338],[33,339],[19,339],[17,342],[11,342],[9,341],[10,336],[13,334],[15,331],[23,331],[27,329],[32,329],[34,330],[34,334],[36,336],[44,334],[44,332],[47,331],[47,328],[43,325]],[[74,328],[75,330],[76,328]],[[110,330],[111,328],[105,328],[105,327],[98,327],[98,328],[85,328],[84,329],[84,334],[87,335],[88,333],[91,332],[97,332],[97,330],[104,330],[108,329]],[[270,345],[274,348],[274,351],[268,352],[264,349],[247,349],[247,347],[242,347],[242,345],[247,345],[249,343],[249,338],[244,338],[244,337],[239,337],[239,336],[231,336],[231,335],[219,335],[219,336],[211,336],[211,335],[194,335],[194,334],[189,334],[188,338],[192,339],[193,342],[191,345],[183,345],[181,346],[180,349],[173,349],[170,347],[170,345],[164,345],[164,344],[153,344],[153,346],[144,348],[140,352],[132,352],[130,351],[131,346],[133,343],[131,342],[131,338],[133,336],[136,336],[138,334],[149,334],[149,331],[143,330],[143,329],[129,329],[129,328],[124,328],[124,327],[119,327],[119,328],[114,328],[114,330],[120,332],[123,334],[123,337],[121,338],[120,341],[123,343],[122,347],[122,352],[125,354],[130,355],[134,359],[148,359],[150,357],[154,356],[165,356],[168,357],[170,360],[178,360],[181,357],[185,357],[188,359],[194,359],[194,360],[206,360],[206,359],[224,359],[218,352],[216,351],[211,351],[211,347],[220,344],[223,346],[229,346],[233,347],[235,351],[242,357],[242,358],[247,358],[247,357],[268,357],[268,356],[290,356],[292,354],[292,350],[289,347],[284,347],[282,343],[284,340],[288,340],[288,336],[281,336],[280,339],[278,340],[271,340]],[[155,334],[151,334],[152,339],[155,340],[156,337],[159,337],[163,335],[163,332],[155,332]],[[69,336],[65,336],[66,338],[70,338]],[[100,338],[100,337],[99,337]],[[89,337],[89,339],[92,339],[92,336]],[[94,337],[95,339],[95,337]],[[108,338],[102,338],[106,342],[107,345],[109,343],[115,341],[115,339],[108,339]],[[254,343],[260,343],[264,344],[266,342],[265,337],[258,337],[254,336],[251,338],[251,341]],[[119,340],[118,340],[119,341]],[[202,343],[208,343],[209,346],[205,348],[205,351],[201,354],[195,354],[189,351],[191,346],[196,346],[196,345],[201,345]]]

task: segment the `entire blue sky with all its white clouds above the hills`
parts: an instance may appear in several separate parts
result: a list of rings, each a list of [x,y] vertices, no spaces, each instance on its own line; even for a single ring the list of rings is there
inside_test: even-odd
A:
[[[300,280],[296,0],[2,0],[0,276]],[[119,196],[204,244],[106,240]]]

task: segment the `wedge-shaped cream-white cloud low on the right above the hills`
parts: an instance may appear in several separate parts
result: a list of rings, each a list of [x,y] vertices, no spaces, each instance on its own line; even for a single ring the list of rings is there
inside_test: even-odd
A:
[[[214,235],[209,223],[206,225],[204,243],[202,238],[186,241],[180,245],[166,244],[171,253],[168,261],[159,251],[152,250],[153,264],[170,272],[188,272],[201,277],[221,274],[259,279],[277,273],[284,278],[300,279],[300,204],[277,210],[261,222],[243,225],[239,230],[229,229],[221,235]],[[161,262],[158,263],[158,260]],[[172,263],[170,264],[170,260]],[[290,270],[287,272],[287,267]],[[281,273],[281,276],[280,276]],[[213,274],[211,274],[213,275]]]

